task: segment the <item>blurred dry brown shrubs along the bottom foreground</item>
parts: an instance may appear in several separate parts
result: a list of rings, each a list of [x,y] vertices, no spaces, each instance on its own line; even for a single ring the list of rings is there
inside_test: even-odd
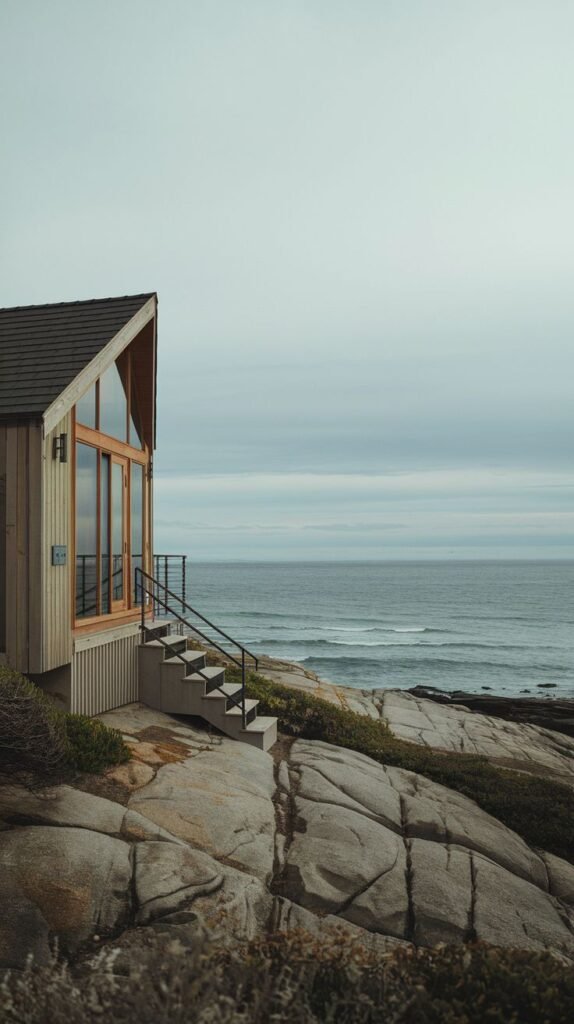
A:
[[[341,931],[233,949],[149,936],[122,963],[100,953],[0,976],[3,1024],[567,1024],[574,971],[547,953],[485,945],[368,953]]]

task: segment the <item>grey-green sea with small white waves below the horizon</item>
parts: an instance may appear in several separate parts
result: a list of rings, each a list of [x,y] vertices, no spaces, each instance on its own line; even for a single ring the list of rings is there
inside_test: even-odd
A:
[[[188,599],[346,686],[574,697],[574,561],[192,562]]]

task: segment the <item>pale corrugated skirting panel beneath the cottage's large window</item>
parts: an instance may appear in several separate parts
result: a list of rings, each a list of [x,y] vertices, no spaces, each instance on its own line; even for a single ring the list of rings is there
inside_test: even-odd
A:
[[[99,715],[138,699],[139,634],[76,651],[72,663],[72,708]]]

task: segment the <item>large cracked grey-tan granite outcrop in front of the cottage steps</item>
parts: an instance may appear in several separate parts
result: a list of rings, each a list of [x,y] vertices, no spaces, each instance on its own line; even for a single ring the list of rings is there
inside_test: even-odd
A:
[[[319,741],[272,757],[141,706],[103,719],[132,746],[129,770],[0,790],[3,966],[44,962],[55,939],[86,955],[146,928],[192,942],[204,926],[574,959],[574,867],[471,800]]]

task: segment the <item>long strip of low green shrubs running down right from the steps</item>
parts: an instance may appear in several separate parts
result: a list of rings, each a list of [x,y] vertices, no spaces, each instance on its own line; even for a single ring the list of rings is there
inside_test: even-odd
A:
[[[235,682],[240,674],[228,669]],[[381,721],[330,705],[300,690],[250,673],[248,695],[263,715],[301,739],[322,739],[366,754],[382,764],[406,768],[475,800],[530,845],[574,863],[574,791],[551,779],[497,768],[486,758],[450,754],[394,736]]]

